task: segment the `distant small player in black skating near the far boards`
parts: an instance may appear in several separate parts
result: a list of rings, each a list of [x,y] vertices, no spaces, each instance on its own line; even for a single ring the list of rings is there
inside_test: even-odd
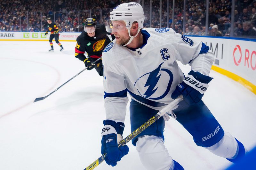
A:
[[[51,18],[47,18],[47,23],[48,23],[47,24],[48,30],[45,32],[45,35],[47,35],[48,32],[51,32],[50,39],[49,39],[51,49],[49,49],[49,52],[53,51],[53,46],[52,46],[53,38],[54,38],[55,42],[60,46],[60,51],[63,51],[64,48],[62,47],[62,45],[59,42],[59,27],[55,23],[52,22]]]

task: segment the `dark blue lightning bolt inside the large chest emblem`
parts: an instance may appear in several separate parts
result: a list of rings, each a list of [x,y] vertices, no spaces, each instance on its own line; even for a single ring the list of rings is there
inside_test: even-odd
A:
[[[154,89],[154,88],[156,87],[156,84],[157,84],[161,74],[159,74],[159,76],[157,76],[157,75],[158,75],[158,73],[161,69],[161,65],[163,63],[161,63],[155,70],[153,70],[152,72],[149,73],[148,80],[144,86],[144,87],[148,86],[147,91],[144,93],[144,95],[146,95],[145,98],[150,97],[152,94],[154,94],[154,92],[156,92],[158,87],[156,89]]]

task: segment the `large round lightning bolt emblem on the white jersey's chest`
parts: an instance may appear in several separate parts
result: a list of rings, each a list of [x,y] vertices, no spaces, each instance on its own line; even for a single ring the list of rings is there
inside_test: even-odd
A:
[[[160,100],[170,91],[173,74],[168,69],[161,69],[163,63],[161,63],[155,70],[144,74],[136,80],[134,86],[142,97],[152,100]]]

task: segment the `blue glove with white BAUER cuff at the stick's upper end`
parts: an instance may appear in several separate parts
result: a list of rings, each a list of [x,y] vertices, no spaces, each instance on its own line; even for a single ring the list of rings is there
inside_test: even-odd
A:
[[[193,105],[199,102],[204,92],[208,88],[208,83],[213,78],[205,76],[198,71],[191,70],[180,84],[176,86],[176,89],[172,92],[172,99],[176,99],[178,96],[183,96],[183,101],[188,105]]]

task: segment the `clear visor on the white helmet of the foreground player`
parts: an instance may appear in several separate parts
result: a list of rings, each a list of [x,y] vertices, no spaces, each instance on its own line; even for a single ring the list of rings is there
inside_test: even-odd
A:
[[[124,21],[111,21],[110,19],[107,19],[105,25],[108,33],[127,30],[126,24]]]

